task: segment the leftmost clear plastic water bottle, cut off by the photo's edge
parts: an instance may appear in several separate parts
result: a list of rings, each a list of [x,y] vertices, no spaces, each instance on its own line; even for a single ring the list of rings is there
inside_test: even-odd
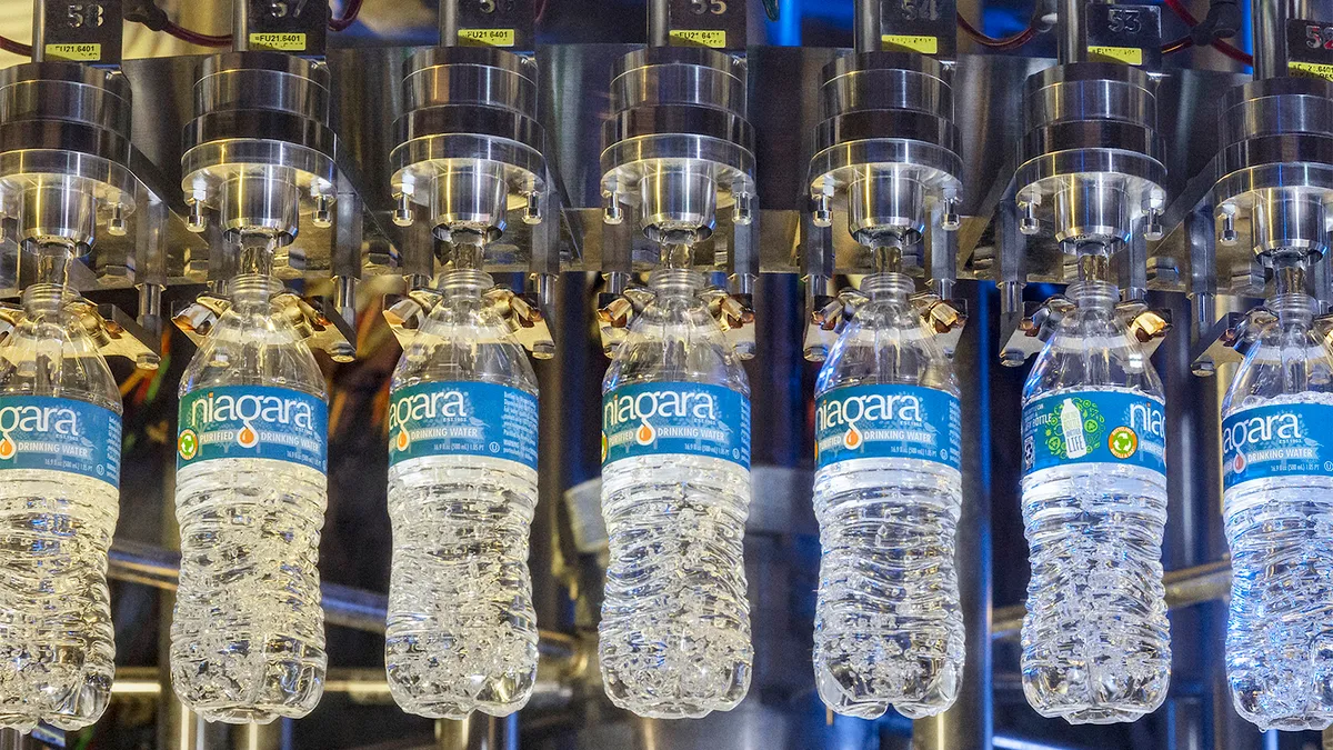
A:
[[[0,726],[20,731],[96,722],[115,675],[120,391],[76,299],[28,287],[0,348]]]

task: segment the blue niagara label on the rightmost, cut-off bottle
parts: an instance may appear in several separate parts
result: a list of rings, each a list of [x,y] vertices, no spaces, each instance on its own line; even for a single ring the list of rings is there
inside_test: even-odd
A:
[[[1333,476],[1333,406],[1284,403],[1222,420],[1222,486],[1272,476]]]

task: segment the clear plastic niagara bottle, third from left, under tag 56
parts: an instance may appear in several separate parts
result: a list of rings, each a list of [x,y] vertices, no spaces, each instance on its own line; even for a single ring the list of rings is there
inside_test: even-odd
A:
[[[537,504],[537,378],[451,271],[393,374],[385,666],[405,711],[461,719],[521,709],[537,675],[528,530]]]

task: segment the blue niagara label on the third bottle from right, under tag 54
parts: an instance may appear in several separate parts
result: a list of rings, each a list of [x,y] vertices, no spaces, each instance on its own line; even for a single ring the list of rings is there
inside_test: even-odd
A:
[[[957,396],[922,386],[845,386],[816,399],[820,468],[857,458],[912,458],[962,466]]]

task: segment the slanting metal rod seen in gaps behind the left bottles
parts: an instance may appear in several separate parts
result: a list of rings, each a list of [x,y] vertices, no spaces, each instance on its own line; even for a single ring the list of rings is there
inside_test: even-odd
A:
[[[141,583],[155,589],[175,591],[180,581],[180,552],[117,540],[111,547],[107,575],[116,581]],[[324,617],[329,625],[384,633],[389,598],[375,591],[325,583],[320,587],[324,598]],[[537,649],[541,655],[560,662],[567,674],[577,674],[585,666],[584,649],[577,638],[543,630]]]

